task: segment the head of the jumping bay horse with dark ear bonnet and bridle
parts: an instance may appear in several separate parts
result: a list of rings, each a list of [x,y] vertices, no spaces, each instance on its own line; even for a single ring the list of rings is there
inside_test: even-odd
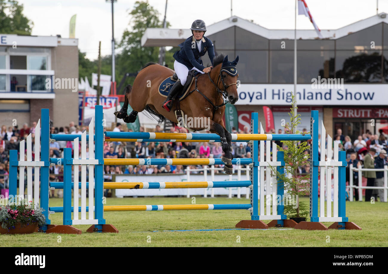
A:
[[[239,94],[237,93],[237,79],[239,74],[237,73],[237,62],[239,61],[239,56],[237,55],[234,61],[230,62],[228,56],[225,56],[222,61],[222,66],[220,70],[221,83],[220,85],[224,91],[227,99],[231,104],[234,104],[239,99]],[[221,84],[220,83],[220,84]]]

